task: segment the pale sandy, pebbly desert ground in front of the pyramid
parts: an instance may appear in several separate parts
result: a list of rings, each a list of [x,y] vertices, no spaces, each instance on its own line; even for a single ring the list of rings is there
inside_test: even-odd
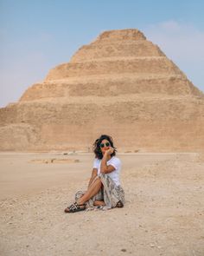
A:
[[[92,154],[0,154],[0,255],[204,255],[204,154],[118,154],[124,208],[63,212]]]

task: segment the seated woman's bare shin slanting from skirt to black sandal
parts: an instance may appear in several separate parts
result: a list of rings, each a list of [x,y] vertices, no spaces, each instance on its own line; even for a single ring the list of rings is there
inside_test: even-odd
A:
[[[77,200],[77,203],[79,205],[83,205],[87,200],[90,200],[93,195],[97,194],[102,187],[102,182],[100,179],[96,179],[94,182],[92,182],[92,185],[88,187],[88,190],[86,191],[86,194],[83,194],[82,197]]]

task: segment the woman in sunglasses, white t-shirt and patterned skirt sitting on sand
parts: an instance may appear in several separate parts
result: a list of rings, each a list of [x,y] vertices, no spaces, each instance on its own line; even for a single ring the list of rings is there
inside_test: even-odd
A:
[[[75,202],[65,209],[65,213],[83,211],[88,207],[124,207],[124,190],[119,181],[121,161],[115,156],[112,137],[101,135],[93,143],[93,152],[95,160],[87,191],[75,194]]]

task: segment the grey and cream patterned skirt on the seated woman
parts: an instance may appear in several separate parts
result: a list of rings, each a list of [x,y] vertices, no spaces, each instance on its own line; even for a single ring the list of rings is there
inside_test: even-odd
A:
[[[92,210],[99,208],[102,210],[116,207],[120,200],[124,204],[124,189],[120,185],[116,185],[107,174],[99,174],[92,182],[96,179],[100,179],[103,187],[99,190],[98,194],[94,195],[90,200],[86,202],[86,209]],[[78,191],[75,194],[75,200],[78,200],[86,192]],[[95,200],[104,200],[105,207],[94,207],[93,203]]]

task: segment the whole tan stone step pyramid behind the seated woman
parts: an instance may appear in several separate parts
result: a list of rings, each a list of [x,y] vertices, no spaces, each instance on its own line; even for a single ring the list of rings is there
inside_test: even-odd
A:
[[[139,30],[110,30],[0,108],[0,150],[201,151],[204,95]]]

